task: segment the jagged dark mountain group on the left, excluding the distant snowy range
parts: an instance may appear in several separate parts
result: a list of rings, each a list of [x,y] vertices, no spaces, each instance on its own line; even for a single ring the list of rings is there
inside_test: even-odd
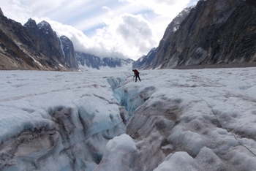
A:
[[[29,19],[22,26],[0,12],[0,24],[0,69],[78,70],[75,56],[64,58],[60,39],[46,21]]]

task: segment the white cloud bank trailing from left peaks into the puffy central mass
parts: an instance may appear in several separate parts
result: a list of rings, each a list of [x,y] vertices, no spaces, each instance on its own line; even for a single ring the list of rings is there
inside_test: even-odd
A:
[[[86,37],[82,31],[48,18],[33,19],[37,23],[47,20],[59,37],[65,35],[71,39],[75,50],[101,58],[136,60],[158,44],[150,24],[141,15],[124,14],[112,20],[105,20],[105,27],[97,29],[93,37]]]

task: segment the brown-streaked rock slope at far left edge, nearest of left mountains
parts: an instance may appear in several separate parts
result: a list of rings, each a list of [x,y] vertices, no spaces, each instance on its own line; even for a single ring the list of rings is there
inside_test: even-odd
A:
[[[33,58],[30,58],[21,45],[23,42],[32,44],[31,39],[23,37],[23,34],[27,32],[26,28],[14,20],[8,20],[4,15],[0,15],[0,24],[1,69],[32,69],[36,67]],[[37,56],[37,52],[34,52],[33,55]]]

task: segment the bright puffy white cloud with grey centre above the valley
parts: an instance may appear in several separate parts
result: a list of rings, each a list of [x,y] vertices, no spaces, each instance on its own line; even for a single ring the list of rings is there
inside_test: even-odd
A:
[[[101,47],[101,50],[93,51],[100,57],[137,59],[157,46],[150,24],[141,15],[124,14],[105,23],[106,26],[91,37]]]

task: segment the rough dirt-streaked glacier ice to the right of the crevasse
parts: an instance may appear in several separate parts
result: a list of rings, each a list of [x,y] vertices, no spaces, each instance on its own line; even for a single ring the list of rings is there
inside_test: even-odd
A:
[[[119,161],[131,170],[255,170],[255,68],[140,73],[140,83],[110,83],[133,115],[127,134],[137,147]]]

